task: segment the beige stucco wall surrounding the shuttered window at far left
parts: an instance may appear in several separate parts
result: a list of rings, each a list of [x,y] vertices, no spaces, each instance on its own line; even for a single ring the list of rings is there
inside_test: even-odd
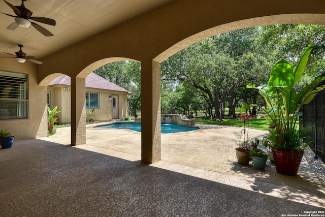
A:
[[[16,140],[47,136],[47,88],[38,85],[37,65],[0,58],[0,70],[28,75],[28,119],[1,120],[0,129],[9,129]]]

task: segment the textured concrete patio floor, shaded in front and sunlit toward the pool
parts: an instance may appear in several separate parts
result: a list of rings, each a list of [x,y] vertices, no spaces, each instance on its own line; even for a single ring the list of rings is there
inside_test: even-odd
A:
[[[103,123],[101,123],[102,125]],[[198,125],[161,135],[161,161],[141,163],[141,133],[87,126],[0,149],[0,216],[281,216],[325,211],[325,167],[306,151],[297,176],[237,163],[241,128]],[[266,132],[249,130],[249,135]],[[283,215],[282,215],[283,216]]]

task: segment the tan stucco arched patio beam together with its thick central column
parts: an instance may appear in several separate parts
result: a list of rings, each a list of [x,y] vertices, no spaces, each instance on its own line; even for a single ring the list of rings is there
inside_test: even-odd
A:
[[[130,57],[142,63],[142,162],[160,160],[160,63],[178,50],[218,33],[243,27],[304,23],[324,24],[321,1],[204,2],[176,0],[48,56],[42,77],[62,69],[70,77],[107,57]],[[78,55],[76,55],[78,54]],[[83,76],[82,76],[83,77]]]

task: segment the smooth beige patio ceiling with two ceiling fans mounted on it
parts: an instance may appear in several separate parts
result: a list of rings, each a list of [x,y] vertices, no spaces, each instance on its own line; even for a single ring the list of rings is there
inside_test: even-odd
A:
[[[14,18],[0,14],[0,56],[9,56],[3,52],[15,54],[19,50],[17,44],[21,44],[27,55],[42,59],[171,1],[27,0],[24,5],[32,11],[32,16],[48,17],[56,21],[55,26],[35,21],[54,36],[45,37],[32,26],[9,30],[7,26],[14,22]],[[21,0],[7,2],[14,6],[21,4]],[[0,12],[15,15],[3,0],[0,0]]]

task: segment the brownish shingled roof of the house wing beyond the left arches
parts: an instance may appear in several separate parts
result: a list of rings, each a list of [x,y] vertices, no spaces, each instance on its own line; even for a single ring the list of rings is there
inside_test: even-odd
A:
[[[55,86],[71,86],[71,78],[67,75],[62,75],[55,78],[50,84],[50,87]],[[110,91],[117,91],[117,92],[125,92],[125,94],[131,94],[131,92],[127,91],[126,89],[102,78],[95,73],[90,73],[86,78],[86,89],[98,89],[98,90],[110,90]]]

